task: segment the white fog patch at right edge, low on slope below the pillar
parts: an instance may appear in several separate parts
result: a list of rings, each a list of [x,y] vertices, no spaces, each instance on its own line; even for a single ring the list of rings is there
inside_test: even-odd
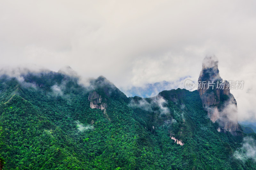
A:
[[[236,150],[234,156],[243,162],[247,159],[256,161],[256,141],[252,137],[244,137],[242,147]]]

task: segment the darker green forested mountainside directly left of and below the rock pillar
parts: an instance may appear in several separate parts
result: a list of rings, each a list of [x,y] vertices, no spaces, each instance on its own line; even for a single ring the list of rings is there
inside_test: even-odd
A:
[[[239,165],[233,152],[242,142],[243,134],[233,136],[229,132],[218,132],[218,123],[207,119],[202,101],[197,91],[189,92],[185,89],[163,91],[159,93],[169,109],[168,114],[148,112],[145,106],[133,105],[133,111],[145,121],[145,126],[151,131],[161,144],[162,152],[168,162],[175,163],[179,169],[254,169]],[[136,98],[135,98],[136,100]],[[148,101],[151,99],[147,99]],[[174,137],[184,145],[174,144]],[[168,142],[167,142],[168,141]]]

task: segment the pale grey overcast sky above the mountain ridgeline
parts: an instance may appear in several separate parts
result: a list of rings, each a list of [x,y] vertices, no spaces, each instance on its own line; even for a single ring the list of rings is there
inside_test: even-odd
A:
[[[205,55],[232,90],[239,120],[256,121],[256,1],[0,1],[0,66],[69,65],[119,88],[197,81]],[[183,88],[183,87],[181,87]]]

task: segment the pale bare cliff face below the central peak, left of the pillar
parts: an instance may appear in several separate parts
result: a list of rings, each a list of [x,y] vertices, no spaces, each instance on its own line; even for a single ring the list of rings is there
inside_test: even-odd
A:
[[[98,108],[104,110],[104,114],[106,114],[107,104],[102,102],[102,97],[95,91],[91,92],[88,96],[88,100],[90,101],[90,107]]]

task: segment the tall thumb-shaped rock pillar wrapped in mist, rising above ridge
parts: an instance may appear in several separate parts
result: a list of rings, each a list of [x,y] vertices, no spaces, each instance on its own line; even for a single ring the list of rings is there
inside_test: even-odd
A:
[[[203,68],[198,78],[198,92],[203,107],[212,122],[218,122],[218,131],[230,131],[236,134],[238,129],[237,107],[234,96],[230,93],[228,81],[223,81],[219,74],[216,57],[205,57]]]

